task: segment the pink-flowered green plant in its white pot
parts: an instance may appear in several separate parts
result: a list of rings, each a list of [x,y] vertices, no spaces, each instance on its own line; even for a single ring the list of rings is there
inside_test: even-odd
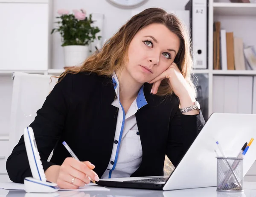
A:
[[[58,27],[53,28],[51,34],[56,31],[61,34],[65,67],[81,65],[88,56],[88,45],[96,39],[100,29],[91,25],[92,14],[87,17],[84,9],[73,10],[71,14],[68,10],[61,9],[58,14],[60,16],[56,18],[60,20],[55,22]]]

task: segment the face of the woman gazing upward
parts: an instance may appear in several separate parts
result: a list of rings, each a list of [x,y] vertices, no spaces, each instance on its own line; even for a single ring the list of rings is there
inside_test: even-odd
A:
[[[149,82],[169,68],[179,47],[179,38],[165,25],[148,25],[131,40],[125,69],[135,81]]]

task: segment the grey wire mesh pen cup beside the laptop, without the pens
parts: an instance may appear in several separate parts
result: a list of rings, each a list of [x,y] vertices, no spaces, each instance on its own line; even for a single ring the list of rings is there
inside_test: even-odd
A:
[[[217,191],[243,191],[243,159],[217,157]]]

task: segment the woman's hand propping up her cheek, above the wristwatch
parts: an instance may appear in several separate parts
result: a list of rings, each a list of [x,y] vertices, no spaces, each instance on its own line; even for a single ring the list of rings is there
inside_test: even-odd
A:
[[[180,100],[192,99],[195,97],[192,93],[192,87],[186,82],[183,75],[181,74],[178,66],[173,62],[169,68],[161,73],[159,76],[151,80],[149,83],[153,83],[151,93],[156,94],[158,87],[163,79],[169,79],[168,84],[172,88],[173,92],[179,97]]]

